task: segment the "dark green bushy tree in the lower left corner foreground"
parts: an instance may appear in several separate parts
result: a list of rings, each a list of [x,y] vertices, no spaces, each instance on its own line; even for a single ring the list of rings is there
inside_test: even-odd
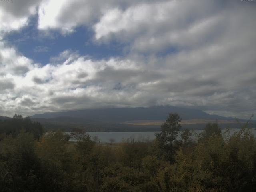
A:
[[[5,137],[1,145],[0,164],[14,174],[17,191],[36,191],[37,175],[41,168],[33,134],[22,129],[16,138],[11,135]]]

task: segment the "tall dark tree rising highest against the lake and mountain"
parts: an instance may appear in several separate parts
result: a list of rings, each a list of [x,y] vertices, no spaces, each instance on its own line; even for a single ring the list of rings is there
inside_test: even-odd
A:
[[[178,131],[181,129],[180,122],[181,118],[177,113],[170,113],[166,122],[161,126],[161,132],[156,133],[156,140],[159,142],[160,148],[169,156],[172,156],[174,152],[173,145],[177,141]]]

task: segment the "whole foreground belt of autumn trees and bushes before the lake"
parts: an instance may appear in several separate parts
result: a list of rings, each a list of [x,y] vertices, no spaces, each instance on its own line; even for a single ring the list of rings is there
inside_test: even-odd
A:
[[[170,113],[156,139],[103,144],[84,132],[77,142],[61,130],[43,134],[40,123],[15,115],[0,121],[3,191],[17,192],[247,192],[256,190],[256,140],[250,122],[222,136],[208,123],[192,139]],[[178,132],[181,137],[178,138]],[[2,188],[1,188],[2,189]]]

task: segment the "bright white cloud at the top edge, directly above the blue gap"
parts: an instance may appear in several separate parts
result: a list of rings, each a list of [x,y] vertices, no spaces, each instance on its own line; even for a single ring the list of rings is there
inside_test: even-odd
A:
[[[151,0],[150,0],[151,1]],[[126,8],[148,0],[44,0],[38,8],[38,29],[58,29],[62,34],[74,32],[77,26],[90,26],[107,10]]]

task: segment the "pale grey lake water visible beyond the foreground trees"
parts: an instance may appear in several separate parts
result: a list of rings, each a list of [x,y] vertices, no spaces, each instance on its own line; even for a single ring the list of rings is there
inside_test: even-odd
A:
[[[222,130],[224,136],[225,131],[226,130]],[[230,129],[230,134],[238,131],[239,129]],[[202,130],[192,131],[192,138],[197,138],[200,132],[202,132]],[[103,143],[108,143],[111,140],[112,142],[122,142],[128,138],[134,138],[134,140],[154,140],[156,138],[155,133],[157,132],[88,132],[92,139],[97,137],[98,140]],[[256,129],[252,129],[252,133],[256,136]]]

